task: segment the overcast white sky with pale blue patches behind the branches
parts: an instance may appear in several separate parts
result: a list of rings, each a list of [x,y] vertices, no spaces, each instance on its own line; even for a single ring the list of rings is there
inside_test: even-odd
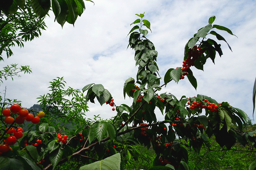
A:
[[[163,78],[170,68],[182,66],[184,47],[197,30],[208,24],[208,18],[216,16],[213,24],[232,30],[225,31],[222,58],[216,55],[215,65],[207,60],[204,71],[192,67],[197,78],[197,91],[185,77],[178,84],[170,82],[160,93],[168,92],[177,98],[204,94],[218,102],[228,101],[252,118],[252,90],[255,80],[256,1],[85,1],[86,9],[77,18],[75,27],[65,23],[63,28],[54,22],[53,12],[46,18],[47,30],[42,36],[24,43],[24,48],[13,47],[14,55],[1,61],[1,67],[11,63],[30,65],[33,73],[4,81],[0,91],[7,86],[6,97],[22,101],[22,107],[36,104],[39,95],[48,93],[49,81],[64,76],[67,86],[82,89],[90,83],[102,84],[112,94],[116,105],[131,105],[132,99],[124,100],[123,84],[129,77],[136,78],[134,51],[127,49],[135,14],[145,12],[152,33],[147,38],[158,51],[157,64]],[[210,37],[209,38],[213,38]],[[163,84],[163,81],[161,82]],[[159,94],[160,94],[159,93]],[[101,114],[102,118],[115,116],[109,105],[102,107],[96,101],[88,103],[88,118]],[[156,111],[157,118],[163,116]],[[254,116],[255,117],[255,116]]]

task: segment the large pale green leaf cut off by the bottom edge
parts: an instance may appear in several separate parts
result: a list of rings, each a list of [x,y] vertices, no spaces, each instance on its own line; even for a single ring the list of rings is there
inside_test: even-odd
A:
[[[114,154],[104,160],[84,165],[79,170],[120,170],[121,155]]]

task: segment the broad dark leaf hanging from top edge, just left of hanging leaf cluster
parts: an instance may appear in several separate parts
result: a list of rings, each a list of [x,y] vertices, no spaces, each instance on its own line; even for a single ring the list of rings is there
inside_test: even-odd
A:
[[[31,6],[34,12],[37,14],[37,16],[42,18],[46,14],[48,14],[48,11],[51,7],[51,1],[50,0],[31,0]]]

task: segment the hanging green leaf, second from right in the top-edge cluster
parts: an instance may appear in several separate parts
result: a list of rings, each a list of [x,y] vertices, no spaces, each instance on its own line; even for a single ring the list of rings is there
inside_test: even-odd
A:
[[[65,0],[68,6],[68,17],[67,22],[69,24],[75,24],[75,21],[77,20],[78,16],[78,8],[77,4],[74,0]]]

